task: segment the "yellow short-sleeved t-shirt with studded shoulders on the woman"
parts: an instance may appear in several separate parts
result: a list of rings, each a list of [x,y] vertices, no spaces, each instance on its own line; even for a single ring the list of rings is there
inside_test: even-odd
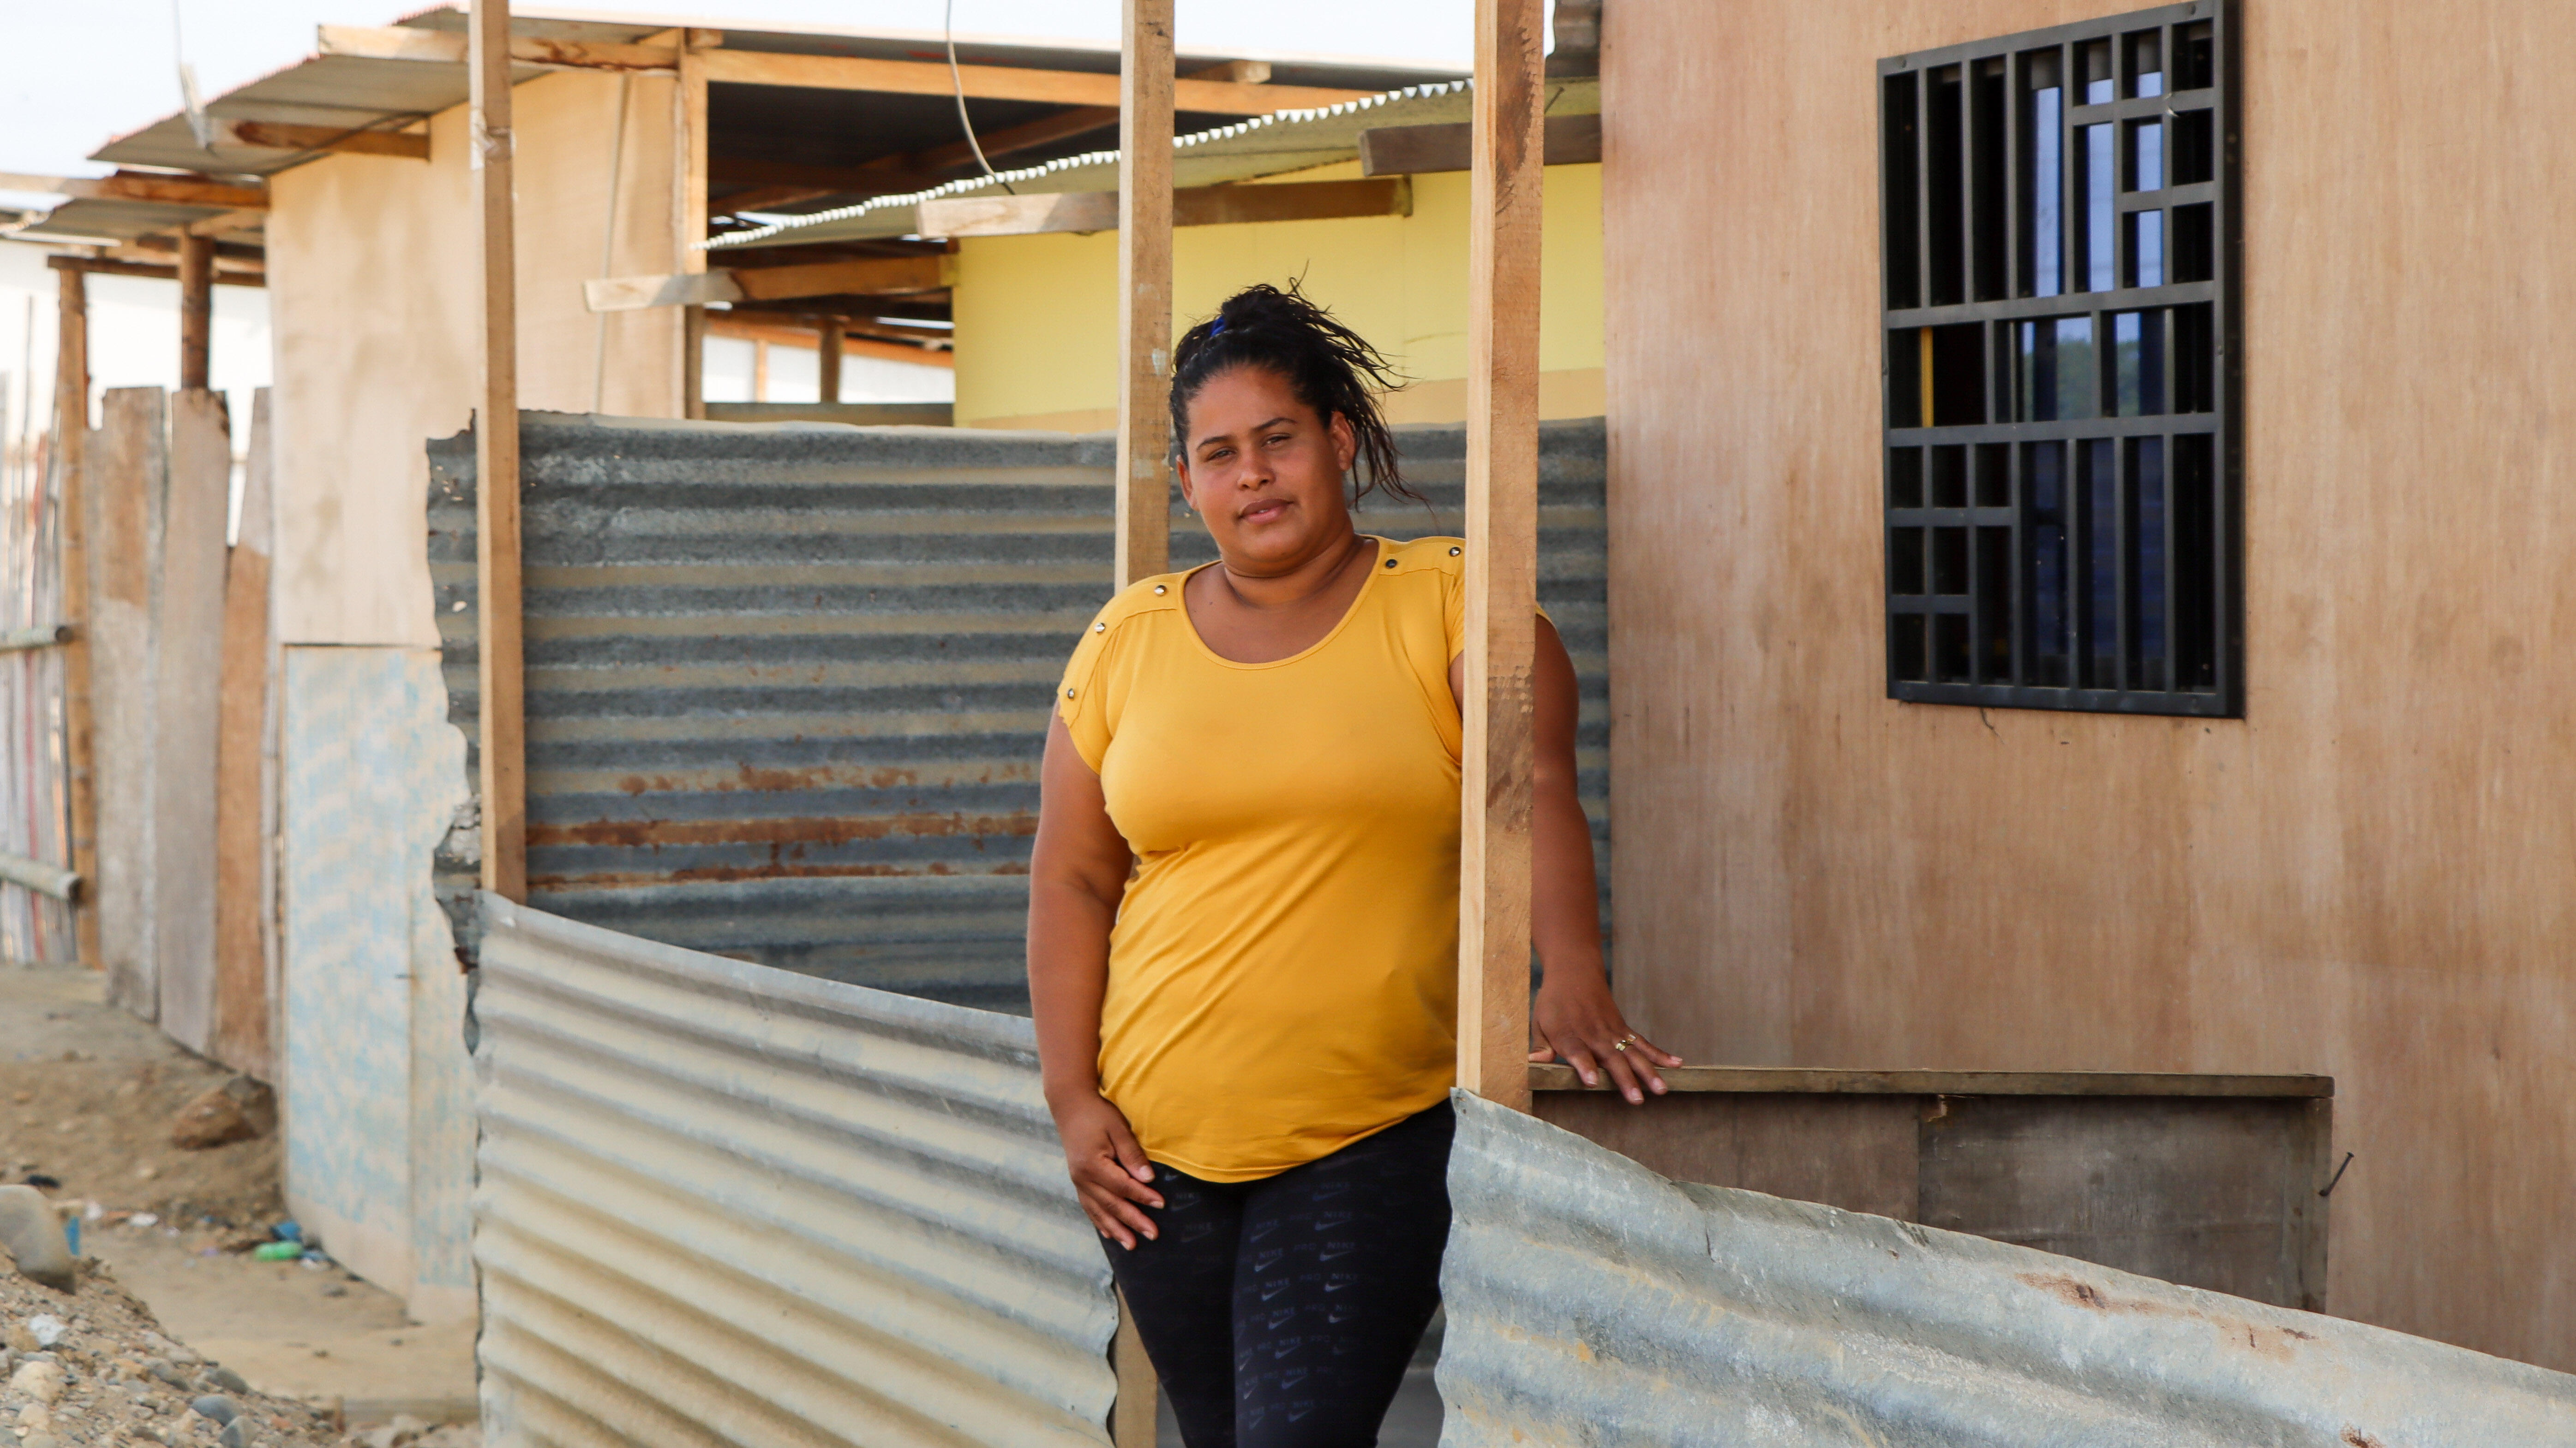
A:
[[[1455,538],[1378,540],[1350,612],[1218,658],[1182,574],[1118,594],[1056,707],[1136,851],[1100,1093],[1144,1152],[1255,1181],[1427,1111],[1455,1080]]]

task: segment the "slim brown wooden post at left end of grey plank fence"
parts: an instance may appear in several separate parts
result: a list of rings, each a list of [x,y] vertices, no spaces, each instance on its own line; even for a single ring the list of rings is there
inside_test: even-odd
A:
[[[80,265],[57,273],[54,345],[54,507],[62,517],[62,615],[80,625],[62,651],[62,733],[70,754],[72,869],[82,880],[82,900],[72,908],[72,941],[80,964],[103,970],[98,952],[98,774],[95,725],[90,715],[90,514],[80,458],[90,437],[90,288]]]

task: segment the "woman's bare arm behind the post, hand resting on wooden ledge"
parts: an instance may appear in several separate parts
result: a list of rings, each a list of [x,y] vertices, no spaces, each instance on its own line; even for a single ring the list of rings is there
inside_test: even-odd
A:
[[[1538,620],[1535,718],[1530,720],[1530,944],[1543,977],[1530,1003],[1530,1060],[1564,1060],[1631,1103],[1662,1093],[1659,1065],[1682,1057],[1628,1029],[1602,967],[1600,892],[1592,882],[1592,823],[1574,779],[1574,730],[1582,707],[1574,658],[1556,625]],[[1466,697],[1466,658],[1450,661],[1450,692]],[[1628,1042],[1620,1049],[1618,1042]]]

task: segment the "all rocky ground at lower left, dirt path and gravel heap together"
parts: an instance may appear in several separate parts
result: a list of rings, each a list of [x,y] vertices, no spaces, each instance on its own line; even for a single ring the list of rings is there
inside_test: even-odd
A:
[[[0,1253],[0,1448],[477,1445],[428,1422],[471,1404],[471,1325],[422,1327],[327,1258],[255,1260],[286,1211],[265,1091],[90,972],[0,970],[0,1183],[82,1250],[72,1294]]]

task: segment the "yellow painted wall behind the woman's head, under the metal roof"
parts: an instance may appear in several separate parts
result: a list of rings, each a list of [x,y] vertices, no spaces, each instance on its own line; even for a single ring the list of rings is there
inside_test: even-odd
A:
[[[1332,180],[1355,165],[1280,180]],[[1548,167],[1540,239],[1540,412],[1602,412],[1602,167]],[[1182,226],[1175,337],[1242,285],[1306,280],[1417,378],[1396,422],[1466,417],[1468,177],[1414,177],[1412,216]],[[958,424],[1118,424],[1118,234],[979,237],[958,252]]]

